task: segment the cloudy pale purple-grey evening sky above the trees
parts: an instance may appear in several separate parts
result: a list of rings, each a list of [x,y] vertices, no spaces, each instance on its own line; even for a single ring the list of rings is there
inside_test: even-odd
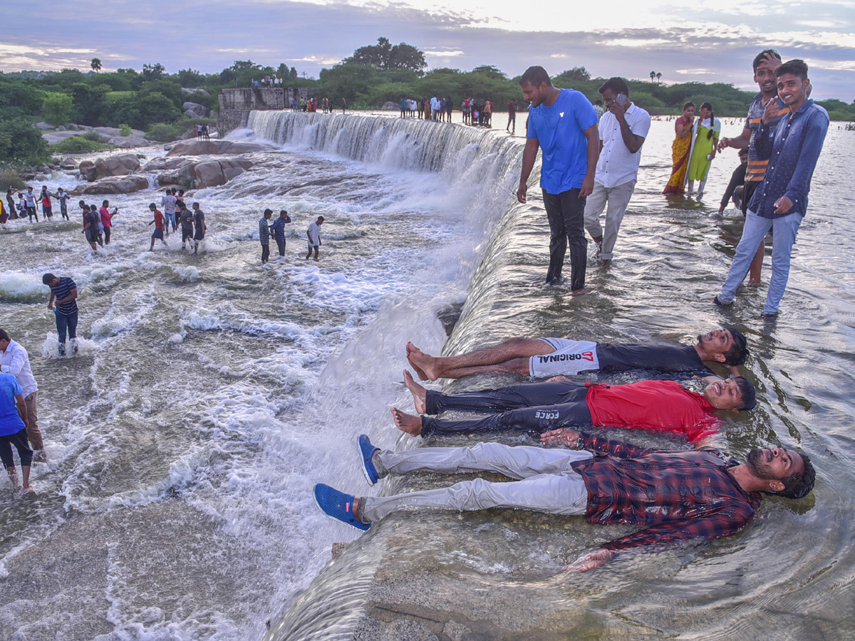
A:
[[[215,73],[235,60],[285,62],[318,77],[380,36],[425,52],[428,68],[493,65],[510,77],[540,64],[663,83],[756,89],[764,48],[802,58],[815,98],[855,100],[853,0],[3,0],[0,70],[86,71],[160,62]],[[572,9],[571,9],[572,8]],[[144,10],[143,10],[144,9]]]

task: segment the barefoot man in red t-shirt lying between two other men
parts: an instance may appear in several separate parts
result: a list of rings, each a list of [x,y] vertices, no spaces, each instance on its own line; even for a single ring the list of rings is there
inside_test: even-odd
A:
[[[697,443],[717,431],[721,424],[717,410],[736,412],[756,404],[754,386],[748,379],[708,376],[705,381],[702,394],[674,380],[642,380],[628,385],[551,380],[450,395],[425,389],[404,370],[404,384],[419,414],[435,415],[449,409],[494,414],[474,420],[435,419],[392,408],[392,416],[398,429],[412,436],[615,426],[673,432]]]

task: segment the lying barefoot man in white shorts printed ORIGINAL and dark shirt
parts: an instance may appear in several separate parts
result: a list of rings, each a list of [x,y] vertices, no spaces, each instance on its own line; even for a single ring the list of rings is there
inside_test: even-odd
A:
[[[412,343],[407,360],[422,380],[459,379],[476,373],[518,373],[547,378],[581,372],[622,372],[656,369],[662,372],[710,374],[703,361],[737,366],[748,358],[746,337],[734,329],[701,334],[694,345],[679,343],[593,343],[568,338],[510,338],[459,356],[430,356]]]

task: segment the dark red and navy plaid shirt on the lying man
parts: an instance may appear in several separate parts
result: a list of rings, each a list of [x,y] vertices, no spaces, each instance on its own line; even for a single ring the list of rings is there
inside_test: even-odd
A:
[[[588,491],[585,520],[643,526],[605,550],[725,537],[757,516],[761,495],[740,487],[728,471],[739,462],[719,450],[644,449],[581,432],[579,442],[593,453],[572,466]]]

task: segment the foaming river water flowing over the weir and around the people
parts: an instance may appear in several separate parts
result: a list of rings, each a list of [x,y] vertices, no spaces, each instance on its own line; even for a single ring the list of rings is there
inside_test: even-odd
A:
[[[655,122],[646,142],[616,261],[590,268],[591,293],[575,298],[540,285],[548,231],[536,194],[513,204],[522,138],[363,116],[259,112],[250,126],[233,135],[280,150],[192,195],[209,226],[199,256],[174,236],[147,251],[156,191],[112,198],[114,241],[95,256],[76,209],[71,222],[0,232],[0,326],[30,352],[50,459],[33,468],[35,495],[0,480],[0,638],[255,639],[268,622],[274,638],[349,638],[378,566],[433,573],[424,598],[481,609],[519,638],[852,638],[852,132],[828,132],[770,326],[758,319],[765,287],[711,305],[740,235],[740,215],[715,213],[735,154],[714,163],[706,204],[666,203],[671,123]],[[266,207],[294,222],[286,256],[272,244],[262,268]],[[321,261],[306,262],[317,215]],[[45,271],[77,282],[77,356],[57,355]],[[310,586],[331,545],[358,538],[318,513],[311,486],[384,491],[365,489],[352,439],[412,443],[388,418],[392,403],[412,407],[404,344],[442,350],[438,317],[460,303],[448,353],[513,335],[690,339],[739,327],[758,409],[728,419],[716,443],[737,456],[799,445],[816,491],[766,501],[736,537],[571,578],[564,563],[624,528],[508,511],[396,515],[386,532],[423,538],[376,528]],[[444,577],[482,600],[432,594]]]

